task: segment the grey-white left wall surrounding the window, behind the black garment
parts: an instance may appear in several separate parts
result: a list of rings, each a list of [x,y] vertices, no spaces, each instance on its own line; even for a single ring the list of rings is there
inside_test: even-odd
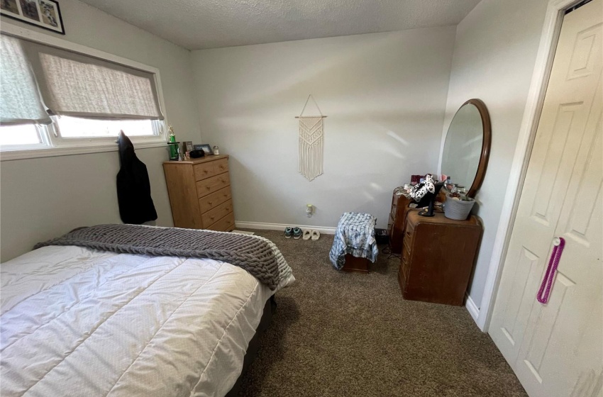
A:
[[[168,122],[178,140],[198,142],[199,120],[190,52],[77,0],[60,1],[66,35],[9,18],[1,23],[110,52],[160,69]],[[165,148],[137,150],[147,165],[157,225],[172,225],[163,176]],[[116,182],[117,152],[0,163],[0,258],[31,250],[35,242],[96,223],[120,223]]]

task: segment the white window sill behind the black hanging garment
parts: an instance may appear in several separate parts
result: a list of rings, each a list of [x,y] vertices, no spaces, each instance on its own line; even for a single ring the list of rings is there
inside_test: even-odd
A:
[[[166,142],[133,142],[134,149],[149,149],[151,147],[166,147]],[[117,143],[105,145],[87,145],[74,147],[43,147],[26,150],[4,150],[0,152],[0,161],[26,160],[40,157],[57,157],[72,155],[89,155],[92,153],[117,152]]]

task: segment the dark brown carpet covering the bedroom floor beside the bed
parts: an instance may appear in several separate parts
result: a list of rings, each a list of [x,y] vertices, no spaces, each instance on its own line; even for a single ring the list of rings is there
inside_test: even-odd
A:
[[[338,272],[319,241],[254,230],[280,248],[296,283],[277,293],[240,396],[526,396],[464,307],[404,301],[399,260]]]

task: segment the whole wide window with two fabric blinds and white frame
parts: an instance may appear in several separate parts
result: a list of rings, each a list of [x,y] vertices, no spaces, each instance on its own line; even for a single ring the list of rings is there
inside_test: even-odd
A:
[[[138,147],[165,143],[157,69],[45,35],[13,37],[5,28],[0,160],[115,150],[121,130]]]

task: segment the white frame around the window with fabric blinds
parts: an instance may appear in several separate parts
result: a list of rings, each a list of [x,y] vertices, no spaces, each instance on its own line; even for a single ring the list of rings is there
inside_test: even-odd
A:
[[[27,28],[21,28],[20,26],[4,23],[2,24],[0,31],[23,40],[79,52],[84,55],[100,58],[101,60],[114,62],[118,65],[152,73],[155,78],[155,86],[157,87],[157,99],[159,100],[159,106],[165,119],[152,121],[153,133],[155,135],[132,136],[129,138],[132,140],[136,149],[165,146],[165,142],[167,142],[167,114],[159,69],[144,65],[140,62],[128,60],[124,57],[109,54],[109,52],[95,50],[94,48],[86,47],[85,45],[71,43],[70,41],[38,33]],[[55,133],[57,123],[54,122],[50,125],[36,125],[36,128],[38,129],[40,139],[42,140],[41,143],[31,145],[3,145],[0,151],[0,161],[31,159],[35,157],[83,155],[87,153],[114,152],[118,150],[116,137],[60,138],[60,134]]]

